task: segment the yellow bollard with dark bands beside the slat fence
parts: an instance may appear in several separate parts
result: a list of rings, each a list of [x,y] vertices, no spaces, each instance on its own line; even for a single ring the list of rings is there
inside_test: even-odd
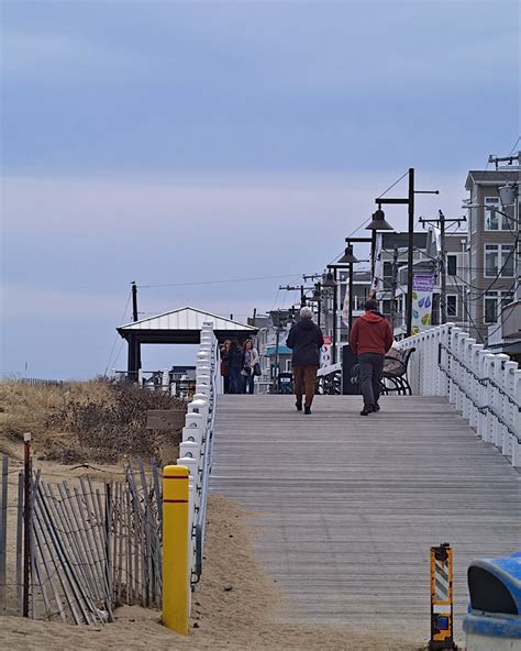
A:
[[[163,470],[163,624],[188,635],[188,468]]]

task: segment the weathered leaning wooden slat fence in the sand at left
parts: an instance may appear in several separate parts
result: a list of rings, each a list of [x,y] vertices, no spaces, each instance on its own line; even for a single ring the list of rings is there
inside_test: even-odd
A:
[[[159,607],[162,598],[162,482],[152,459],[126,463],[123,482],[90,476],[46,483],[33,473],[30,492],[29,581],[24,581],[24,472],[19,472],[16,559],[5,574],[8,461],[0,493],[0,614],[29,604],[34,619],[100,625],[115,606]],[[11,603],[5,598],[12,591]],[[9,592],[8,592],[9,594]]]

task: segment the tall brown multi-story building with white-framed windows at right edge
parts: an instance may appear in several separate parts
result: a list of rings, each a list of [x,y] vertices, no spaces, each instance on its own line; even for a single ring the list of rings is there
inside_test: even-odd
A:
[[[512,302],[519,285],[519,208],[508,216],[498,188],[520,184],[519,167],[470,170],[465,188],[468,202],[468,320],[472,336],[496,341],[503,309]],[[519,194],[518,194],[519,201]],[[496,211],[497,209],[498,211]],[[506,214],[502,214],[506,213]]]

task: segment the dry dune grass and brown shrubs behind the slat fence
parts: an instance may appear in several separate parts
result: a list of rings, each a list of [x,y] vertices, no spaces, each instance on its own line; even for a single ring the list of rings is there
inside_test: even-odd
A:
[[[0,384],[0,452],[19,457],[24,432],[42,459],[62,463],[117,463],[123,456],[156,456],[179,433],[145,429],[147,409],[184,409],[185,405],[154,391],[104,379],[62,386]]]

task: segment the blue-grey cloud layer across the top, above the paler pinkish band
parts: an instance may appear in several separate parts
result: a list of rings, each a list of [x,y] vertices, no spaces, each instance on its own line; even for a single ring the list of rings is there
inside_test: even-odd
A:
[[[443,169],[518,122],[512,2],[31,7],[2,32],[11,173]]]

